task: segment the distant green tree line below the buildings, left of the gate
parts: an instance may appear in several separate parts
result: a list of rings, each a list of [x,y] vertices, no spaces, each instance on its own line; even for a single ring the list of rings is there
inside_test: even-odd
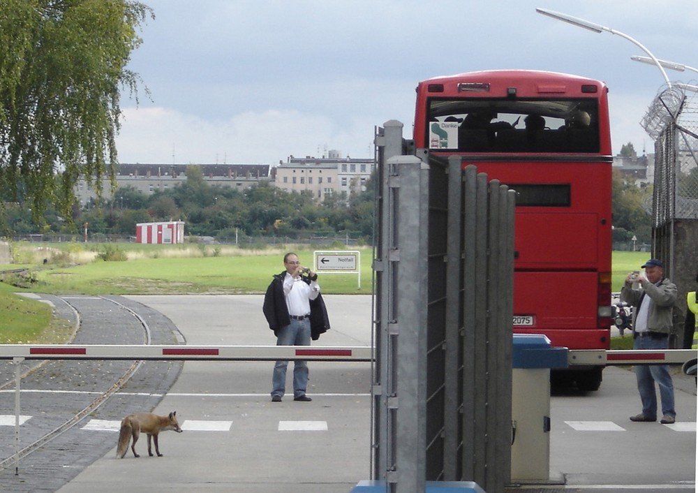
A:
[[[137,223],[184,221],[186,235],[225,240],[238,235],[297,238],[347,235],[370,244],[373,241],[373,184],[347,198],[346,193],[327,196],[322,203],[311,193],[288,192],[268,181],[238,190],[210,185],[200,166],[186,170],[186,181],[165,191],[147,194],[133,186],[114,190],[110,199],[97,198],[74,207],[69,218],[49,207],[36,223],[31,207],[6,207],[13,235],[51,233],[76,235],[87,223],[90,237],[131,237]]]

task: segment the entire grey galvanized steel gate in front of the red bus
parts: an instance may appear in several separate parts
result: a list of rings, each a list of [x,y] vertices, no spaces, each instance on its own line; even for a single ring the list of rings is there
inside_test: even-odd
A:
[[[378,147],[373,476],[503,492],[511,469],[514,191],[461,158]],[[415,155],[416,154],[416,155]]]

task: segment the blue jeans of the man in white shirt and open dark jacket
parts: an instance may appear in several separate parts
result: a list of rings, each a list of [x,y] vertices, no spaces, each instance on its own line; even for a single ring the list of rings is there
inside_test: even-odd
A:
[[[310,321],[291,319],[291,323],[276,331],[276,346],[310,346]],[[283,397],[286,391],[286,367],[288,360],[277,361],[272,374],[272,397]],[[308,363],[295,360],[293,365],[293,397],[305,395],[308,385]]]

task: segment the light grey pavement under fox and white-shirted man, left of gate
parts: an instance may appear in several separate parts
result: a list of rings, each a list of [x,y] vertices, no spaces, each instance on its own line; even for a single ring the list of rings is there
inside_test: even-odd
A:
[[[167,314],[188,344],[275,344],[260,296],[130,298]],[[370,297],[328,295],[325,302],[332,330],[319,344],[370,344]],[[273,362],[186,362],[156,409],[176,410],[185,430],[161,435],[165,457],[135,459],[129,452],[115,459],[111,450],[59,491],[350,491],[370,476],[370,365],[309,365],[313,402],[287,394],[272,403]],[[291,369],[292,363],[289,384]],[[187,429],[188,422],[219,428]],[[115,434],[108,439],[116,445]]]

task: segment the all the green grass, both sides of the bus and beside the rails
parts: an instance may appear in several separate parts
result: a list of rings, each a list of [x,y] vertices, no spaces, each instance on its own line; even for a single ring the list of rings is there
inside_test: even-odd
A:
[[[108,247],[20,243],[13,244],[12,249],[16,263],[0,265],[0,270],[27,267],[30,274],[22,278],[7,276],[0,283],[0,344],[61,341],[70,334],[64,321],[50,322],[47,305],[17,297],[13,294],[16,291],[85,295],[264,293],[272,274],[283,270],[285,251],[295,251],[306,266],[312,266],[315,251],[290,245],[244,250],[216,245],[133,243]],[[119,253],[115,258],[125,260],[99,258],[114,251]],[[360,288],[357,274],[321,273],[323,293],[371,293],[373,251],[370,248],[359,251]],[[648,258],[649,254],[644,252],[614,252],[612,289],[621,290],[628,272],[639,270]]]

